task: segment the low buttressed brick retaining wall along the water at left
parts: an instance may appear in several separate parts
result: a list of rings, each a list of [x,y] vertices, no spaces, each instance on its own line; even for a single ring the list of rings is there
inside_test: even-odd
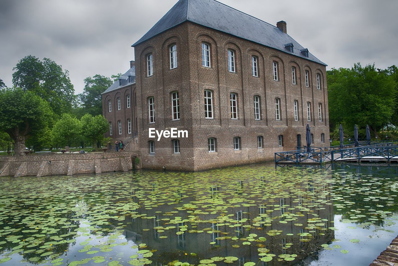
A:
[[[133,169],[136,157],[140,159],[139,152],[0,156],[0,176],[41,177],[128,171]],[[141,168],[141,160],[135,168]]]

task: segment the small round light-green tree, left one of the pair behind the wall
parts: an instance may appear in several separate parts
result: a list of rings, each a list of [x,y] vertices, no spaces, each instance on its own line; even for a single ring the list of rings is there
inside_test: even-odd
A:
[[[53,127],[53,143],[70,146],[79,140],[81,134],[82,123],[70,114],[62,114],[61,119]]]

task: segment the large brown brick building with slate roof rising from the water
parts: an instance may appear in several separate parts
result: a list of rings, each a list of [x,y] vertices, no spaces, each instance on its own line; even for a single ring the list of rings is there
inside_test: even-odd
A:
[[[121,121],[117,138],[129,136],[134,120],[142,167],[272,160],[305,145],[306,124],[314,146],[328,145],[326,64],[287,34],[286,22],[275,27],[214,0],[180,0],[132,46],[135,81],[105,91],[103,112]],[[128,93],[137,105],[111,114],[109,100],[117,105]],[[149,128],[189,134],[157,141]]]

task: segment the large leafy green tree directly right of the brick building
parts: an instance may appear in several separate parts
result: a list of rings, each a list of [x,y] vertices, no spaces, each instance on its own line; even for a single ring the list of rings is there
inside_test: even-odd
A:
[[[391,121],[395,108],[395,82],[375,65],[351,69],[333,68],[328,74],[330,128],[342,123],[349,128],[377,131]]]

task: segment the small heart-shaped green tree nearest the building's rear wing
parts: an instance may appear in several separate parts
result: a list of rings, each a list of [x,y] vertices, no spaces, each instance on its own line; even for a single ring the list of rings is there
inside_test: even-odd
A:
[[[102,115],[92,116],[91,114],[85,114],[80,121],[83,126],[82,135],[93,143],[94,148],[108,130],[108,121]]]

